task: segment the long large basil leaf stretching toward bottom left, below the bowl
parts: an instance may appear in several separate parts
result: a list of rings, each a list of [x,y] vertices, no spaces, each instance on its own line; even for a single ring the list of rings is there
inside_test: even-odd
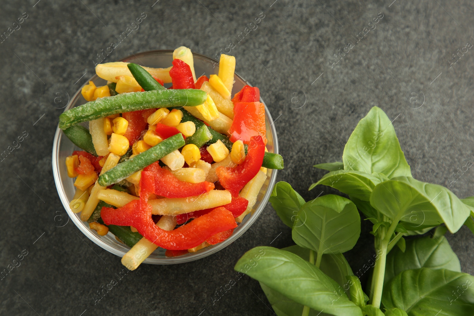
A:
[[[300,256],[273,247],[256,247],[234,269],[291,300],[335,316],[362,316],[336,281]]]

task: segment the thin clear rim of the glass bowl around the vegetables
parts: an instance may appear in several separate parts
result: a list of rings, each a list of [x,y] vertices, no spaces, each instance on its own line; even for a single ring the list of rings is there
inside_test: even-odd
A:
[[[148,54],[169,54],[169,53],[173,53],[173,50],[152,50],[152,51],[146,51],[146,52],[142,52],[142,53],[127,56],[125,58],[122,58],[119,61],[128,61],[129,59],[132,59],[134,57],[139,59],[140,56],[144,56],[144,55],[148,55]],[[219,62],[217,60],[212,59],[212,58],[210,58],[206,55],[197,54],[197,53],[192,53],[192,54],[194,56],[199,56],[200,58],[202,58],[204,60],[208,60],[210,63],[219,64]],[[247,85],[252,86],[244,78],[242,78],[240,75],[238,75],[237,72],[235,73],[235,76],[237,78],[239,78],[240,80],[244,81]],[[94,80],[95,78],[99,78],[99,77],[96,74],[94,74],[94,76],[92,76],[90,80]],[[68,102],[67,106],[64,108],[64,111],[71,108],[72,104],[75,102],[75,100],[79,97],[80,94],[81,94],[81,89],[77,90],[77,92],[73,95],[73,97]],[[271,134],[272,134],[272,137],[273,137],[273,153],[278,153],[278,138],[277,138],[275,126],[273,124],[272,116],[270,115],[270,111],[268,110],[268,108],[267,108],[267,106],[266,106],[266,104],[265,104],[265,102],[262,98],[260,98],[260,102],[262,102],[265,105],[265,115],[266,115],[268,121],[270,122],[270,131],[271,131]],[[61,133],[61,129],[59,128],[59,126],[56,127],[56,133],[55,133],[55,138],[54,138],[54,143],[53,143],[53,152],[52,152],[52,154],[53,154],[53,156],[52,156],[52,165],[53,165],[53,175],[54,175],[54,179],[55,179],[56,189],[58,191],[59,198],[61,199],[61,202],[63,203],[64,209],[66,210],[68,216],[73,221],[73,223],[77,226],[77,228],[79,228],[79,230],[81,230],[81,232],[84,235],[86,235],[87,238],[89,238],[92,242],[99,245],[101,248],[108,251],[109,253],[113,253],[113,254],[115,254],[119,257],[123,257],[126,252],[124,252],[120,249],[114,248],[113,246],[111,246],[111,245],[107,244],[106,242],[104,242],[103,240],[101,240],[97,234],[92,233],[91,230],[88,227],[84,226],[81,219],[79,217],[77,217],[76,214],[74,214],[71,211],[71,208],[69,207],[69,202],[70,201],[69,201],[69,199],[67,198],[67,196],[65,194],[64,187],[63,187],[63,182],[61,181],[61,178],[59,176],[59,144],[61,142],[62,135],[64,135],[64,133]],[[178,257],[163,257],[163,258],[150,258],[150,257],[148,257],[144,260],[143,263],[149,263],[149,264],[176,264],[176,263],[191,262],[191,261],[195,261],[195,260],[207,257],[207,256],[211,255],[212,253],[216,253],[219,250],[224,249],[229,244],[232,244],[235,240],[237,240],[237,238],[239,238],[241,235],[243,235],[246,232],[246,230],[255,222],[255,220],[262,213],[262,211],[265,208],[266,203],[268,202],[268,199],[270,198],[270,195],[272,193],[273,185],[276,182],[276,174],[277,174],[277,170],[272,170],[272,174],[270,176],[270,180],[269,180],[269,183],[268,183],[268,188],[265,191],[263,199],[260,201],[260,203],[258,204],[255,211],[251,214],[251,216],[247,215],[244,218],[244,220],[242,221],[242,223],[240,223],[238,225],[239,229],[237,231],[235,231],[234,234],[232,234],[228,239],[226,239],[222,243],[215,244],[215,245],[209,246],[207,248],[204,248],[201,251],[196,252],[196,253],[190,253],[190,254],[186,254],[184,256],[178,256]]]

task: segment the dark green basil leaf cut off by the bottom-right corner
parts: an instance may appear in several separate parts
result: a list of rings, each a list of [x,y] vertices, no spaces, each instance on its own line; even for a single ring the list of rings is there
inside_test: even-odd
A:
[[[466,273],[428,268],[406,270],[384,288],[382,303],[389,309],[403,309],[408,316],[473,315],[473,284],[474,277]]]

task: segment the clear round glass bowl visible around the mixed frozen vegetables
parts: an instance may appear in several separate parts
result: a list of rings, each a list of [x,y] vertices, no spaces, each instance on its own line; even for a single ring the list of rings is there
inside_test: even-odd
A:
[[[194,53],[193,56],[194,69],[197,78],[199,78],[203,74],[206,74],[209,77],[210,74],[217,74],[219,72],[219,63],[216,60],[201,54]],[[171,65],[171,62],[173,61],[173,51],[149,51],[128,56],[120,61],[137,63],[147,67],[164,68],[169,67]],[[94,81],[97,86],[106,84],[106,81],[99,78],[97,75],[94,75],[90,80]],[[236,73],[234,87],[232,88],[232,95],[234,95],[237,91],[241,90],[242,87],[246,84],[250,85],[247,81],[245,81]],[[262,99],[260,99],[260,102],[264,103]],[[81,89],[79,89],[74,94],[74,96],[69,101],[68,105],[64,108],[64,110],[68,110],[84,103],[86,103],[86,101],[84,98],[82,98]],[[270,153],[278,153],[276,130],[273,126],[273,120],[266,105],[265,114],[266,136],[268,139],[267,149]],[[79,150],[79,148],[76,147],[58,127],[56,129],[53,144],[53,174],[55,177],[56,189],[58,190],[61,202],[63,202],[64,208],[69,217],[72,219],[73,223],[82,231],[84,235],[87,236],[87,238],[89,238],[91,241],[98,244],[100,247],[107,250],[108,252],[116,254],[119,257],[123,257],[123,255],[127,253],[130,249],[128,246],[119,243],[115,239],[115,236],[112,235],[112,233],[108,233],[105,236],[97,235],[95,231],[89,228],[89,225],[86,222],[83,222],[81,220],[79,216],[80,213],[75,214],[71,211],[71,208],[69,208],[69,202],[73,199],[75,187],[73,185],[73,178],[69,178],[67,176],[65,159],[74,150]],[[268,169],[266,181],[264,182],[264,185],[260,190],[260,193],[258,194],[257,202],[255,203],[252,212],[247,214],[246,217],[244,217],[242,223],[238,224],[237,228],[234,230],[234,233],[224,242],[203,248],[195,253],[186,253],[178,257],[166,257],[165,250],[163,248],[157,248],[154,253],[152,253],[148,258],[145,259],[144,263],[174,264],[190,262],[209,256],[210,254],[218,252],[219,250],[227,247],[238,237],[244,234],[244,232],[255,222],[257,217],[264,209],[268,199],[270,198],[270,194],[272,193],[272,188],[275,183],[275,180],[276,170]]]

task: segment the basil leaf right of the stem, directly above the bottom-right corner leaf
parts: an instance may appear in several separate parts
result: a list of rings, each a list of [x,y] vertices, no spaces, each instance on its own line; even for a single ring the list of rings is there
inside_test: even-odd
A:
[[[448,269],[461,272],[456,253],[445,236],[431,238],[423,236],[406,241],[405,252],[393,248],[387,254],[384,284],[402,271],[419,268]]]

